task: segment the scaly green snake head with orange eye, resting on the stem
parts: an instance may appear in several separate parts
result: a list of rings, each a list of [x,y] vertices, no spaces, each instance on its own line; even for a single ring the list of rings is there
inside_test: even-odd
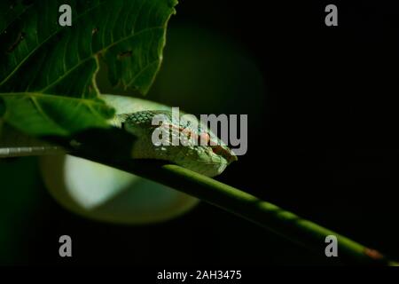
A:
[[[162,126],[152,124],[153,117],[158,114],[163,117]],[[131,151],[133,159],[173,162],[207,177],[220,175],[231,162],[237,160],[231,149],[225,146],[214,133],[206,131],[204,126],[193,129],[190,122],[173,119],[170,111],[148,110],[121,114],[118,118],[121,121],[121,127],[138,138]],[[166,131],[170,130],[171,135],[165,139],[166,146],[153,144],[153,130],[158,127],[163,127]],[[210,138],[214,145],[209,145],[208,142],[207,145],[201,146],[199,141],[201,136]],[[172,145],[174,138],[179,145]]]

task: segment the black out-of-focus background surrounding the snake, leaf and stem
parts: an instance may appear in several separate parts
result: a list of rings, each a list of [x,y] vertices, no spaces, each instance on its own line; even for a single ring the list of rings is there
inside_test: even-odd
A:
[[[248,152],[219,180],[398,259],[399,17],[392,3],[182,1],[149,99],[198,114],[248,114]],[[338,6],[338,27],[325,26],[326,4]],[[198,53],[183,55],[185,47]],[[207,65],[217,54],[236,57]],[[248,65],[236,64],[243,57]],[[187,73],[198,85],[180,76]],[[0,166],[8,177],[4,264],[340,264],[206,203],[160,225],[93,222],[52,200],[35,158]],[[74,241],[70,259],[58,255],[61,234]]]

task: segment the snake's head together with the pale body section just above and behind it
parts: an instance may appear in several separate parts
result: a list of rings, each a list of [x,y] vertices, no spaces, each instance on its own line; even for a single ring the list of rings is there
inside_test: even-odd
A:
[[[237,156],[231,149],[194,117],[186,120],[177,119],[172,117],[169,106],[145,99],[112,95],[103,95],[103,99],[117,110],[117,114],[110,123],[137,137],[131,151],[133,159],[173,162],[207,177],[220,175],[231,162],[237,161]],[[180,114],[184,115],[184,113]],[[162,126],[153,125],[155,115],[162,115]],[[195,122],[192,121],[194,119]],[[192,125],[197,127],[194,128]],[[158,127],[171,130],[171,137],[167,139],[168,146],[153,144],[153,130]],[[212,143],[201,146],[198,143],[201,136],[207,137]],[[178,139],[179,145],[171,145],[173,137]],[[198,138],[197,143],[194,141],[195,138]]]

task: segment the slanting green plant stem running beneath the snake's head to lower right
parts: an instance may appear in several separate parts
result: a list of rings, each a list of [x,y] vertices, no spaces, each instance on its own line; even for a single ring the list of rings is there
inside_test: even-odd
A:
[[[98,161],[98,158],[90,160],[106,163],[120,170],[128,171],[198,197],[202,201],[207,201],[291,241],[311,248],[319,256],[326,257],[325,247],[328,243],[325,242],[325,237],[334,235],[338,240],[339,257],[344,262],[395,265],[394,262],[389,261],[377,250],[367,248],[270,202],[262,201],[254,195],[195,173],[192,170],[186,170],[173,164],[160,164],[144,160],[135,162]]]

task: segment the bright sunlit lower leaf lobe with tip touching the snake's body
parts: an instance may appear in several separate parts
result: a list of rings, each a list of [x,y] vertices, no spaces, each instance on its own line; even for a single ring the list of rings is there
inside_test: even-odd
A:
[[[6,105],[4,120],[23,125],[29,134],[68,136],[88,128],[106,128],[104,118],[113,115],[113,108],[99,99],[60,97],[35,92],[1,95]]]

